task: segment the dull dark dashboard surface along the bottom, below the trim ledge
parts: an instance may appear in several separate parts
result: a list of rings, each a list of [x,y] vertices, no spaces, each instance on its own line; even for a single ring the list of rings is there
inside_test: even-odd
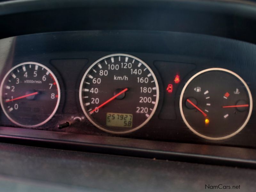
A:
[[[0,148],[3,191],[214,190],[205,185],[237,186],[233,190],[238,191],[255,189],[255,171],[250,169],[12,144],[1,144]]]

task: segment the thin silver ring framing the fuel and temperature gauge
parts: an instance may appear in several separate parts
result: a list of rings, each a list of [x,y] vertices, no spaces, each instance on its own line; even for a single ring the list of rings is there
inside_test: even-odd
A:
[[[227,73],[230,73],[232,75],[234,75],[236,78],[238,78],[245,86],[247,92],[248,92],[248,95],[249,95],[249,101],[250,101],[250,104],[249,104],[249,113],[248,113],[248,116],[246,118],[246,120],[244,121],[244,124],[239,128],[237,129],[235,132],[227,135],[227,136],[224,136],[224,137],[208,137],[208,136],[205,136],[199,132],[197,132],[196,130],[193,129],[193,127],[191,127],[188,123],[188,121],[186,120],[185,116],[184,116],[184,113],[183,113],[183,109],[182,109],[182,99],[183,99],[183,95],[184,95],[184,92],[188,86],[188,84],[193,80],[195,79],[197,76],[205,73],[205,72],[208,72],[208,71],[224,71],[224,72],[227,72]],[[208,139],[208,140],[224,140],[224,139],[228,139],[230,137],[233,137],[234,135],[236,135],[237,133],[239,133],[240,131],[242,131],[242,129],[245,127],[245,125],[248,123],[251,115],[252,115],[252,94],[251,94],[251,91],[248,87],[248,85],[245,83],[245,81],[242,79],[242,77],[240,77],[239,75],[237,75],[235,72],[233,71],[230,71],[228,69],[224,69],[224,68],[208,68],[208,69],[204,69],[198,73],[196,73],[195,75],[193,75],[188,81],[187,83],[185,84],[185,86],[183,87],[182,91],[181,91],[181,94],[180,94],[180,114],[181,114],[181,117],[183,119],[183,121],[185,122],[185,124],[188,126],[188,128],[194,132],[196,135],[198,135],[199,137],[202,137],[204,139]]]

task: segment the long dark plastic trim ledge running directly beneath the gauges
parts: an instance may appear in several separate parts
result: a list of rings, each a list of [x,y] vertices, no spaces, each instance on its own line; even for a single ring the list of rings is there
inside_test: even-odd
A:
[[[29,135],[29,137],[27,136]],[[256,150],[0,127],[3,142],[123,155],[256,168]]]

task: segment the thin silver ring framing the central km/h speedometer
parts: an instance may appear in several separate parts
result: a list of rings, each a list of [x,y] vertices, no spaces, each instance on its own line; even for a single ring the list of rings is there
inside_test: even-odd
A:
[[[97,64],[99,63],[100,61],[104,60],[104,59],[107,59],[109,57],[115,57],[115,56],[126,56],[126,57],[130,57],[130,58],[133,58],[135,60],[138,60],[140,61],[146,68],[148,68],[149,72],[152,74],[154,80],[155,80],[155,83],[156,83],[156,104],[151,112],[151,114],[148,116],[147,120],[144,121],[142,124],[140,124],[139,126],[131,129],[131,130],[128,130],[128,131],[124,131],[124,132],[115,132],[115,131],[110,131],[106,128],[104,128],[103,126],[100,126],[98,124],[96,124],[92,118],[91,118],[91,115],[88,115],[85,108],[84,108],[84,105],[83,105],[83,100],[82,100],[82,88],[83,88],[83,84],[84,84],[84,79],[85,77],[87,76],[87,74],[89,73],[89,71]],[[84,115],[87,117],[87,119],[94,125],[96,126],[97,128],[99,128],[100,130],[102,131],[105,131],[105,132],[108,132],[108,133],[112,133],[112,134],[126,134],[126,133],[131,133],[131,132],[134,132],[138,129],[140,129],[141,127],[143,127],[145,124],[148,123],[148,121],[152,118],[152,116],[155,114],[156,112],[156,108],[158,106],[158,101],[159,101],[159,85],[158,85],[158,81],[156,79],[156,75],[154,74],[153,70],[141,59],[133,56],[133,55],[129,55],[129,54],[124,54],[124,53],[115,53],[115,54],[110,54],[110,55],[106,55],[104,57],[101,57],[100,59],[96,60],[95,62],[92,63],[92,65],[85,71],[84,73],[84,76],[82,77],[82,80],[81,80],[81,83],[80,83],[80,87],[79,87],[79,100],[80,100],[80,105],[81,105],[81,108],[84,112]]]

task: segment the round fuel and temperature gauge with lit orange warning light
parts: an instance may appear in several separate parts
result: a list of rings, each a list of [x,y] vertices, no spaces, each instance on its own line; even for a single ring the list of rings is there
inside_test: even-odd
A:
[[[181,92],[180,112],[188,128],[198,136],[227,139],[247,124],[252,113],[252,95],[236,73],[210,68],[188,80]]]

